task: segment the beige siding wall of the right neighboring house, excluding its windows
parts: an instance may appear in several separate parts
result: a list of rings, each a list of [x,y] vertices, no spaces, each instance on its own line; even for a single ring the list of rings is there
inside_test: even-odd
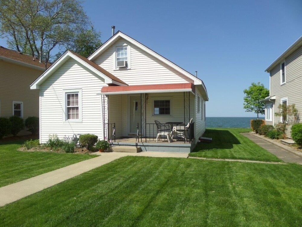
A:
[[[285,59],[285,81],[280,85],[280,65],[271,70],[271,96],[276,96],[274,112],[279,112],[279,104],[282,98],[288,98],[288,105],[295,104],[300,116],[302,116],[302,47]],[[279,116],[275,117],[275,124],[280,122]],[[301,119],[300,119],[301,121]],[[288,137],[291,137],[291,125],[293,117],[289,118]]]

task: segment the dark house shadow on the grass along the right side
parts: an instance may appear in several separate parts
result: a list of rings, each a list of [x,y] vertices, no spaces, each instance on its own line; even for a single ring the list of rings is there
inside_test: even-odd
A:
[[[203,137],[212,138],[212,142],[198,143],[192,152],[211,149],[232,149],[233,144],[240,144],[239,140],[228,130],[207,129]]]

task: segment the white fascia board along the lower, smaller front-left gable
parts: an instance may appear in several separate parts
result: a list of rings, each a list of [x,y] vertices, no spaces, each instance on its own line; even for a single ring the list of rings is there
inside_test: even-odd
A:
[[[78,58],[76,55],[70,53],[69,51],[66,51],[65,54],[63,54],[53,65],[51,65],[40,77],[37,78],[34,83],[31,84],[30,88],[31,89],[39,89],[40,88],[40,81],[42,81],[45,77],[48,77],[56,70],[56,67],[60,62],[62,62],[65,58],[70,57],[73,58],[74,60],[80,62],[82,65],[93,71],[95,74],[99,75],[100,77],[105,79],[105,83],[107,84],[112,84],[112,80],[107,77],[106,75],[102,74],[100,71],[83,61],[81,58]],[[114,81],[115,82],[115,81]],[[118,82],[117,82],[118,83]]]

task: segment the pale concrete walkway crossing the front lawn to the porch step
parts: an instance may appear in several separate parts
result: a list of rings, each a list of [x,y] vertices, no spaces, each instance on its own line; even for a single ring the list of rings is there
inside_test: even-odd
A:
[[[70,166],[56,169],[26,180],[19,181],[0,188],[0,206],[17,201],[74,176],[107,164],[124,156],[175,157],[187,158],[188,153],[176,152],[141,152],[141,153],[95,153],[100,155]]]

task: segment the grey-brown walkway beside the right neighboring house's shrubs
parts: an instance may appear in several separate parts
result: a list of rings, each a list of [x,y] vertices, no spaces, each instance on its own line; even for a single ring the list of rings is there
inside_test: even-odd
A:
[[[270,140],[267,138],[263,138],[259,135],[252,134],[252,133],[241,133],[243,136],[249,138],[253,142],[257,143],[259,146],[263,147],[268,152],[274,154],[279,159],[283,160],[284,162],[288,163],[298,163],[302,165],[302,157],[295,154],[294,149],[290,148],[293,151],[290,151],[288,148],[283,147],[286,145],[278,144],[274,140]]]

